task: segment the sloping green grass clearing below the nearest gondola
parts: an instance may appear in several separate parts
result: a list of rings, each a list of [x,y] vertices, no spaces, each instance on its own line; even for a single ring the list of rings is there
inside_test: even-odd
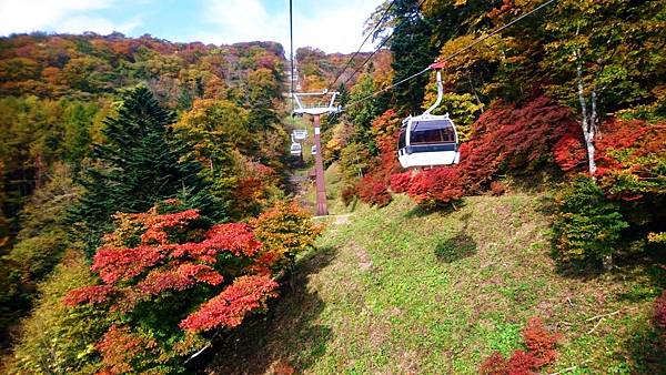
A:
[[[364,209],[329,227],[300,259],[294,290],[235,332],[210,369],[474,374],[492,352],[519,348],[527,318],[541,316],[564,337],[547,372],[666,373],[648,323],[664,268],[565,275],[549,235],[535,195],[468,197],[451,213],[404,196]]]

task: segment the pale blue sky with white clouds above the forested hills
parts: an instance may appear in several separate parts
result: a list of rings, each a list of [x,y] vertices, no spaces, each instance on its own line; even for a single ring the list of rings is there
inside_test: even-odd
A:
[[[294,47],[356,51],[365,20],[382,2],[293,0]],[[0,36],[32,31],[120,31],[214,44],[270,40],[289,51],[289,0],[0,0]]]

